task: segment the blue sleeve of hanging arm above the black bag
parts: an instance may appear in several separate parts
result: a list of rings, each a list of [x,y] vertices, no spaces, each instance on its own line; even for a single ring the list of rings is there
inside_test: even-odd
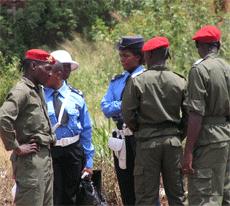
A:
[[[80,142],[84,148],[86,155],[86,168],[93,167],[94,146],[92,144],[92,125],[90,115],[86,104],[84,103],[80,111],[80,121],[82,125],[82,132],[80,134]]]

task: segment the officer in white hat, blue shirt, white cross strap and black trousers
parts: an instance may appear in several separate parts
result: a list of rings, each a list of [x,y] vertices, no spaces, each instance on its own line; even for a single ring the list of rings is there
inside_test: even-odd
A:
[[[52,76],[45,89],[48,114],[57,136],[52,148],[54,167],[54,205],[77,203],[82,172],[92,173],[94,147],[88,109],[82,93],[66,84],[66,69],[76,68],[70,55],[54,58],[61,62],[53,67]],[[64,53],[67,53],[64,51]]]

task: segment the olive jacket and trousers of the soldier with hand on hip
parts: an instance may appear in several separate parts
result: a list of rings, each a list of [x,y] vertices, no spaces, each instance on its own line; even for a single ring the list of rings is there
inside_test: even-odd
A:
[[[29,79],[21,81],[10,91],[0,108],[0,134],[7,150],[29,143],[40,146],[38,153],[11,156],[17,184],[17,206],[53,205],[53,169],[50,144],[55,137],[51,131],[41,90]]]

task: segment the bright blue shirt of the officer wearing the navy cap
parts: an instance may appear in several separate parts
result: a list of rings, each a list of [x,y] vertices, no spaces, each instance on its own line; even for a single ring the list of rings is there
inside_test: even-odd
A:
[[[107,118],[121,116],[121,99],[127,79],[143,70],[144,67],[139,66],[132,74],[125,71],[111,80],[109,88],[101,101],[101,110]]]

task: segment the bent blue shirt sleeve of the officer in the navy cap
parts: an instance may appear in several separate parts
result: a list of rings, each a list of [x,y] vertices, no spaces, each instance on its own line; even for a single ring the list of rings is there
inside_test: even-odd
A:
[[[112,83],[110,83],[109,88],[101,100],[101,110],[107,118],[113,117],[121,113],[121,100],[116,100],[113,95]]]

